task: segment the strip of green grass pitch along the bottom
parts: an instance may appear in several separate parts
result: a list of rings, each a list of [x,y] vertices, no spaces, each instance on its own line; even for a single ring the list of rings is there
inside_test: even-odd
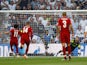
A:
[[[73,57],[71,61],[62,61],[62,57],[29,57],[3,58],[0,57],[0,65],[87,65],[87,57]]]

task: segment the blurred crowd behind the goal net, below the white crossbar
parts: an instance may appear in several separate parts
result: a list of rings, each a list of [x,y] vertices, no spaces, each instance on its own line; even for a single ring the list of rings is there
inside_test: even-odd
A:
[[[0,23],[0,32],[9,31],[14,24],[19,24],[19,30],[25,25],[27,21],[30,22],[33,28],[32,43],[59,43],[56,35],[57,21],[60,15],[50,14],[17,14],[8,13],[3,15]],[[71,19],[75,37],[78,36],[80,41],[84,39],[85,26],[87,26],[87,15],[74,15],[68,16]],[[0,42],[9,43],[9,35],[0,35]]]

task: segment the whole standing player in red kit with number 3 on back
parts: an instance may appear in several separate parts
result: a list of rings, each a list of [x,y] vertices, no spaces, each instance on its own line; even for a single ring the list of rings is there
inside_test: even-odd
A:
[[[72,24],[70,19],[66,16],[66,12],[62,13],[60,19],[58,19],[58,33],[60,33],[60,41],[62,43],[64,60],[67,60],[66,57],[66,45],[68,47],[68,58],[71,59],[71,47],[70,47],[70,31],[72,35],[74,34]]]

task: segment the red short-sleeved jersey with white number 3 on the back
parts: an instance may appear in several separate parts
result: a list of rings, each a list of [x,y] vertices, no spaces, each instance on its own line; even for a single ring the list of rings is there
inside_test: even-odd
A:
[[[58,20],[58,26],[61,26],[61,32],[69,32],[71,21],[69,18],[62,17]]]

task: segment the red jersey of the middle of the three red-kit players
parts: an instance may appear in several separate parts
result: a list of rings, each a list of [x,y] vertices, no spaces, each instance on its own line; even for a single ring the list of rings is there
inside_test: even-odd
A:
[[[31,27],[28,27],[28,26],[23,27],[22,37],[29,38],[29,37],[32,37],[32,34],[33,32]]]

